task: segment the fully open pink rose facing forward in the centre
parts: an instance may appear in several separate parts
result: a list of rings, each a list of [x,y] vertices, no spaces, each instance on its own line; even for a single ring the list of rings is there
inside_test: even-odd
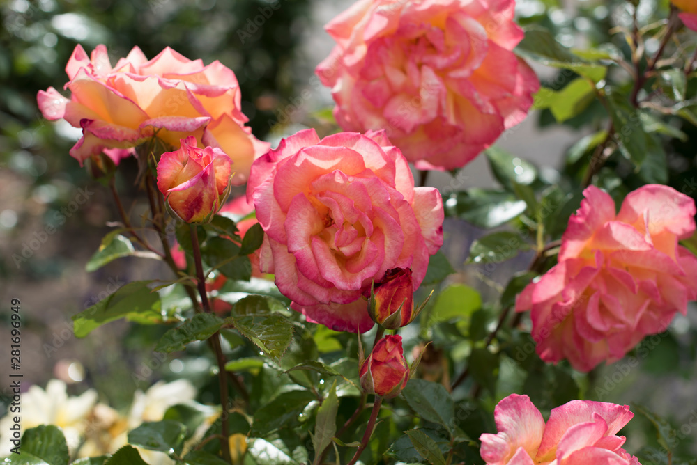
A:
[[[261,271],[308,321],[335,331],[370,329],[362,295],[372,282],[411,267],[418,287],[443,244],[441,194],[414,188],[384,132],[298,132],[254,162],[247,198],[266,232]]]

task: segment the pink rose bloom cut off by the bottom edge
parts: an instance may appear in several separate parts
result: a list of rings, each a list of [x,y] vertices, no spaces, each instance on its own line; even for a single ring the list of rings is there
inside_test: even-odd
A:
[[[572,400],[545,425],[530,397],[512,394],[494,410],[498,434],[480,436],[480,455],[487,465],[641,465],[615,435],[632,417],[628,405]]]

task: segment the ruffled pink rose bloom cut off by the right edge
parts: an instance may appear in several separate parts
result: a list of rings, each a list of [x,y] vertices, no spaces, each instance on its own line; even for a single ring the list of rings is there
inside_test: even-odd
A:
[[[558,265],[530,283],[516,311],[530,310],[542,360],[576,370],[620,360],[644,336],[668,328],[697,299],[697,258],[678,240],[695,230],[694,200],[649,184],[615,214],[597,187],[569,219]]]

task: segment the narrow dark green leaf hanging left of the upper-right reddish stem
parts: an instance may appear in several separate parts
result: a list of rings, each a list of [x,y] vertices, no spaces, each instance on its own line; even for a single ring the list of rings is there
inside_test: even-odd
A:
[[[620,152],[637,168],[641,167],[648,145],[646,133],[641,124],[641,115],[631,106],[627,95],[610,87],[606,87],[605,91],[615,134],[620,140]]]

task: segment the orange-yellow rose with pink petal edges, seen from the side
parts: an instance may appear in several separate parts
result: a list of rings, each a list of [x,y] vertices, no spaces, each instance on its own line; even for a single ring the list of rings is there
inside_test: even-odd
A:
[[[45,118],[65,118],[82,128],[70,155],[80,164],[105,152],[116,164],[133,148],[157,134],[172,147],[194,136],[199,147],[217,147],[233,157],[235,184],[243,184],[252,161],[268,150],[240,111],[235,74],[219,61],[204,66],[167,47],[148,61],[134,47],[112,68],[107,47],[87,56],[75,47],[68,65],[70,99],[56,89],[40,90],[38,106]],[[159,155],[159,154],[156,154]]]

